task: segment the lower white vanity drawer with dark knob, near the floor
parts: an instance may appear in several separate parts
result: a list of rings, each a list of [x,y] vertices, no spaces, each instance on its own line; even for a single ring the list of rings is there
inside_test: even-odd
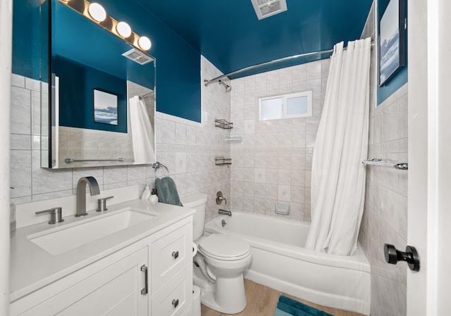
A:
[[[185,267],[174,279],[152,296],[152,315],[186,315],[192,302],[192,269]]]

